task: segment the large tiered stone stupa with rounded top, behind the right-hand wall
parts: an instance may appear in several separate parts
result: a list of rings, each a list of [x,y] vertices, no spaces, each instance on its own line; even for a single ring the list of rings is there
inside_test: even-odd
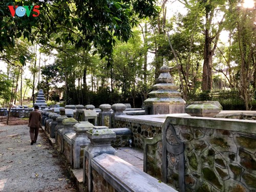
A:
[[[156,84],[152,87],[153,91],[148,94],[150,98],[144,101],[145,114],[185,113],[186,102],[181,98],[181,93],[177,91],[178,86],[174,84],[169,74],[169,67],[162,66],[160,73]]]

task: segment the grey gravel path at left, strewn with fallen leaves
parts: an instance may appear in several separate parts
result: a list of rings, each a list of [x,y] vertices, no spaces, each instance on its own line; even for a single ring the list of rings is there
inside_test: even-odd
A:
[[[30,145],[27,124],[0,123],[0,191],[77,191],[43,131]]]

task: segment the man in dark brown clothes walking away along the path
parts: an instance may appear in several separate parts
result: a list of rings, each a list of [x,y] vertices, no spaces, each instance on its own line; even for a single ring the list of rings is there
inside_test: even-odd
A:
[[[36,139],[38,136],[39,127],[41,127],[41,113],[38,111],[39,106],[34,106],[34,111],[30,113],[29,116],[29,133],[31,139],[31,145],[36,143]]]

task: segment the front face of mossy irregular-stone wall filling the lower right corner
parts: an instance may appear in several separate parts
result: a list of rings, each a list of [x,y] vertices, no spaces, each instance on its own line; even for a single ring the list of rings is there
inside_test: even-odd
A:
[[[185,190],[255,191],[255,127],[256,122],[250,120],[167,118],[162,141],[170,148],[179,143],[184,145]],[[179,189],[182,156],[167,147],[163,147],[162,153],[162,162],[167,158],[166,181]]]

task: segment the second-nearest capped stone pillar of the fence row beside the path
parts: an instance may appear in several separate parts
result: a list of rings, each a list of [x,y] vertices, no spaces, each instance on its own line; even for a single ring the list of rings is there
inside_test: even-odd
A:
[[[90,129],[93,129],[93,124],[88,121],[81,121],[74,125],[74,130],[76,132],[76,135],[72,137],[72,162],[74,169],[81,167],[80,162],[82,162],[82,160],[80,160],[80,152],[82,147],[87,146],[90,143],[86,134]]]

